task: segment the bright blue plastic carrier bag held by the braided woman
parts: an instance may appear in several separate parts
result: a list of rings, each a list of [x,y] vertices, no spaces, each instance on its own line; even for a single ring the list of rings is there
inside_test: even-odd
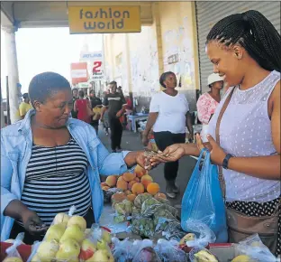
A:
[[[200,170],[200,163],[204,162]],[[219,182],[218,168],[211,164],[210,152],[201,151],[195,170],[187,184],[182,200],[181,226],[186,232],[194,232],[188,225],[196,220],[207,225],[215,234],[217,243],[228,241],[225,206]]]

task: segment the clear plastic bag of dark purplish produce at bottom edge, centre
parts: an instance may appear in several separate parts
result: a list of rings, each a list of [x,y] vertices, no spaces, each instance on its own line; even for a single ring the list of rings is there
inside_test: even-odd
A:
[[[134,246],[138,247],[132,262],[161,262],[159,256],[153,248],[153,242],[149,239],[134,242]]]

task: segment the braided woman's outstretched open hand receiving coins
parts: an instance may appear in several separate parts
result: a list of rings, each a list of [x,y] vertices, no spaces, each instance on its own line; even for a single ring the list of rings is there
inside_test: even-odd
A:
[[[184,145],[185,144],[169,145],[162,153],[151,158],[152,163],[177,161],[186,154]]]

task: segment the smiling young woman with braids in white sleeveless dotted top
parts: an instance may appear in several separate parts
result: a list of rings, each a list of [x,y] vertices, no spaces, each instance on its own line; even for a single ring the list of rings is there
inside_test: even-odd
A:
[[[210,121],[209,143],[202,144],[197,135],[199,146],[171,145],[155,160],[168,162],[185,154],[198,155],[206,146],[213,163],[224,167],[226,206],[249,217],[272,216],[280,201],[280,34],[257,11],[233,14],[213,26],[206,53],[213,72],[229,86]],[[218,145],[216,123],[232,90]],[[278,221],[278,234],[272,238],[278,236],[276,253],[280,254],[280,212]]]

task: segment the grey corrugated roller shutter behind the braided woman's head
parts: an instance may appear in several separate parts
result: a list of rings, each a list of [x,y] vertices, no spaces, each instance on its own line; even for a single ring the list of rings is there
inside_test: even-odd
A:
[[[207,78],[213,72],[212,63],[205,54],[206,36],[213,24],[230,14],[257,10],[274,24],[280,33],[280,2],[195,2],[199,48],[200,88],[202,93],[208,90]]]

